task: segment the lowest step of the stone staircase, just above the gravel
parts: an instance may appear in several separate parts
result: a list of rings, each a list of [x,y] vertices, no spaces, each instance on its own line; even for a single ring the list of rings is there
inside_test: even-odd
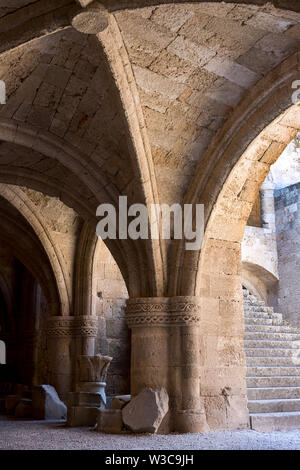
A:
[[[300,429],[300,412],[250,414],[250,426],[255,431]]]

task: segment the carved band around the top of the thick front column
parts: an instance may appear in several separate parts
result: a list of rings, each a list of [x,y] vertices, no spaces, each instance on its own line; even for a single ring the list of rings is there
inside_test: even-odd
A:
[[[200,318],[198,297],[144,297],[127,301],[129,328],[197,325]]]

